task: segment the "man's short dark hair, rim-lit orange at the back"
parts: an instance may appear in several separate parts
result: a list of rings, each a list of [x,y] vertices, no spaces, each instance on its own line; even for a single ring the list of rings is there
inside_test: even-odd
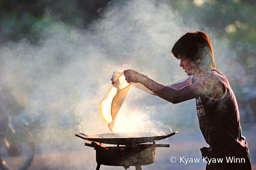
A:
[[[201,59],[204,66],[215,68],[212,43],[204,32],[187,32],[177,40],[171,52],[178,60]]]

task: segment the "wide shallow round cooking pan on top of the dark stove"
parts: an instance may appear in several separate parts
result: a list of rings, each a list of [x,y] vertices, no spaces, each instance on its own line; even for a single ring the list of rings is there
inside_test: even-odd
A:
[[[98,135],[86,135],[78,133],[76,136],[79,138],[89,140],[91,142],[99,142],[105,144],[119,144],[119,145],[133,145],[139,143],[155,142],[155,140],[161,140],[169,138],[172,135],[177,134],[173,132],[167,135],[156,135],[152,132],[132,132],[132,133],[109,133],[109,134],[98,134]]]

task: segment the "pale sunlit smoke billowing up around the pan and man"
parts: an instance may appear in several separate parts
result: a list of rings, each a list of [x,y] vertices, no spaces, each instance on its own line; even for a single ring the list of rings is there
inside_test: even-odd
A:
[[[40,123],[34,129],[36,138],[110,132],[98,105],[111,87],[114,71],[135,69],[164,84],[186,78],[170,49],[188,31],[206,32],[217,68],[225,67],[219,53],[227,43],[217,42],[210,28],[202,30],[192,21],[184,24],[165,1],[113,1],[87,30],[79,30],[46,9],[31,32],[38,35],[36,43],[28,37],[2,45],[1,86],[10,90],[19,105],[26,106],[31,122]],[[186,102],[185,107],[167,104],[132,87],[115,126],[120,127],[117,131],[170,130],[163,125],[179,127],[194,118],[194,101]]]

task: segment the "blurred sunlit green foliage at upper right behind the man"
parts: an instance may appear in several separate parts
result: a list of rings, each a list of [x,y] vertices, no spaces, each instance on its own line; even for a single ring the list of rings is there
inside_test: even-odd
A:
[[[212,28],[219,39],[229,40],[237,53],[237,62],[246,69],[249,84],[256,77],[256,1],[193,0],[170,1],[173,10],[180,11],[184,23],[196,22]],[[195,20],[190,20],[190,15]]]

